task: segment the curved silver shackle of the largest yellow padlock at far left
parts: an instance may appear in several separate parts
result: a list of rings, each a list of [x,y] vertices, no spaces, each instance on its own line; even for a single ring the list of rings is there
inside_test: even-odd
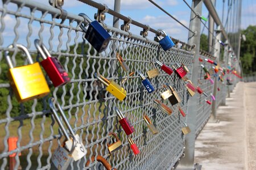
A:
[[[32,60],[32,57],[30,55],[30,52],[28,52],[28,49],[26,48],[26,46],[23,46],[21,44],[16,44],[16,47],[18,49],[22,50],[22,52],[26,54],[28,63],[30,63],[30,64],[34,63],[33,60]],[[14,48],[14,45],[11,44],[7,48],[9,48],[9,49]],[[9,56],[9,51],[6,50],[4,53],[5,53],[5,58],[6,58],[6,61],[7,61],[7,64],[9,66],[9,68],[13,69],[14,66],[13,66],[13,62],[11,62],[11,58]]]

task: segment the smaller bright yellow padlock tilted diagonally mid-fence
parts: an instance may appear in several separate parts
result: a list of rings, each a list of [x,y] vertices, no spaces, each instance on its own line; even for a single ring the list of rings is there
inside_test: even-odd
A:
[[[110,92],[110,94],[114,95],[117,97],[118,100],[123,101],[126,97],[126,90],[119,86],[119,84],[115,83],[114,80],[109,81],[106,79],[104,76],[94,73],[94,76],[100,80],[101,83],[103,83],[106,86],[106,90]]]

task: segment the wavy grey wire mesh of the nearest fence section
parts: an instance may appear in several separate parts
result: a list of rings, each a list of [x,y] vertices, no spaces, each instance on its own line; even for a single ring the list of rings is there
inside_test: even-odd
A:
[[[56,19],[60,10],[33,1],[3,1],[0,28],[1,62],[1,117],[0,117],[0,165],[1,169],[8,166],[8,157],[15,156],[18,168],[50,169],[51,157],[56,147],[63,142],[59,126],[51,116],[47,104],[48,97],[55,97],[67,114],[68,120],[76,134],[79,134],[86,147],[87,154],[77,162],[72,162],[70,169],[89,167],[100,168],[102,165],[92,162],[93,155],[101,155],[118,169],[162,169],[172,167],[183,154],[184,135],[181,133],[185,121],[178,112],[177,105],[171,106],[169,101],[163,101],[173,109],[171,116],[161,112],[153,103],[160,100],[164,91],[163,84],[170,83],[181,98],[181,107],[187,111],[189,98],[184,83],[175,75],[168,76],[163,71],[151,80],[156,91],[148,94],[142,85],[142,79],[135,73],[129,76],[123,73],[115,58],[118,52],[125,59],[131,71],[146,72],[152,69],[151,60],[164,61],[166,65],[184,63],[191,70],[193,54],[187,50],[172,48],[164,52],[159,44],[143,37],[123,32],[105,25],[112,39],[105,52],[97,53],[83,39],[85,33],[80,29],[83,18],[69,14],[62,23]],[[10,50],[14,65],[26,64],[24,56],[14,49],[7,49],[9,44],[23,44],[32,54],[34,61],[42,61],[34,47],[35,38],[40,39],[56,56],[68,72],[71,82],[63,87],[54,88],[46,76],[51,94],[42,99],[35,99],[19,104],[10,88],[7,78],[7,67],[4,50]],[[105,87],[94,78],[94,73],[100,73],[108,79],[118,82],[127,91],[122,102],[115,99]],[[190,78],[188,74],[188,78]],[[127,78],[124,84],[121,81]],[[207,88],[205,86],[205,88]],[[118,123],[118,107],[131,121],[135,132],[131,135],[141,153],[134,156],[127,136]],[[143,121],[147,114],[159,133],[152,135]],[[107,143],[109,132],[118,134],[123,143],[121,150],[110,155]],[[17,148],[9,151],[7,140],[18,137]],[[21,154],[21,156],[18,156]]]

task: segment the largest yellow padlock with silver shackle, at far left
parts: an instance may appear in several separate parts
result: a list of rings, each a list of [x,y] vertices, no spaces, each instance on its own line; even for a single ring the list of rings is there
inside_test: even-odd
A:
[[[8,77],[11,87],[19,103],[44,97],[49,94],[49,87],[44,78],[43,71],[38,62],[33,63],[27,48],[21,44],[16,44],[17,48],[22,50],[28,59],[28,65],[13,67],[9,52],[5,51],[5,58],[9,66]],[[9,45],[8,48],[14,48]]]

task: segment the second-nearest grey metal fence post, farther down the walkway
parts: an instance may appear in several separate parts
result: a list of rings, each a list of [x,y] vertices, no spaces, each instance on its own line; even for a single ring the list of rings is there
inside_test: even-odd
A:
[[[218,40],[221,40],[221,28],[218,25],[217,30],[216,30],[216,39],[214,40],[214,53],[213,56],[216,57],[216,62],[220,62],[220,43]],[[214,78],[214,88],[213,88],[213,95],[218,99],[217,97],[217,84],[218,84],[218,78]],[[212,101],[212,118],[213,120],[216,120],[216,109],[217,109],[217,100]]]

